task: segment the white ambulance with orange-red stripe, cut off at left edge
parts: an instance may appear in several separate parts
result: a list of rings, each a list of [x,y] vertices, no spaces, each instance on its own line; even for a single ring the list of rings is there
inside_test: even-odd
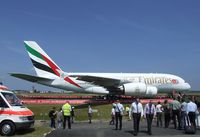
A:
[[[18,129],[34,127],[34,114],[5,86],[0,85],[0,134],[13,135]]]

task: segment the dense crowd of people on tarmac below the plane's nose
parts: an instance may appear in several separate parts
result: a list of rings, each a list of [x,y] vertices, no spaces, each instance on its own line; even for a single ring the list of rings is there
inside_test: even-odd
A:
[[[122,117],[124,115],[123,112],[125,111],[124,106],[118,100],[113,104],[113,108],[111,111],[112,120],[110,121],[110,124],[115,123],[115,129],[121,130]],[[152,100],[149,100],[149,102],[145,104],[143,107],[142,103],[140,102],[140,99],[137,98],[134,100],[134,102],[131,104],[128,110],[129,110],[128,112],[129,118],[133,120],[133,130],[135,136],[137,136],[139,132],[141,118],[146,119],[147,132],[149,135],[152,135],[151,128],[153,119],[156,119],[157,127],[164,127],[164,128],[168,128],[170,121],[172,121],[174,128],[178,130],[183,130],[186,128],[187,125],[186,120],[188,119],[191,123],[191,126],[194,128],[194,133],[195,133],[196,132],[195,119],[197,114],[199,114],[200,106],[199,104],[197,106],[197,104],[193,102],[191,98],[188,98],[187,102],[185,101],[185,98],[181,98],[181,100],[173,98],[172,102],[168,102],[168,100],[165,100],[163,104],[161,104],[160,101],[158,101],[156,104],[153,104]],[[163,126],[163,119],[164,119],[164,126]]]

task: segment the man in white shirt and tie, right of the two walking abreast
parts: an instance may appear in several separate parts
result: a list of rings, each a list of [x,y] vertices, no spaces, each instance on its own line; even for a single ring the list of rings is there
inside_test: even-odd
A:
[[[155,105],[152,104],[152,100],[149,100],[149,103],[147,103],[144,107],[144,118],[147,119],[147,129],[149,135],[152,135],[151,132],[151,126],[152,126],[152,120],[156,115],[156,109]]]

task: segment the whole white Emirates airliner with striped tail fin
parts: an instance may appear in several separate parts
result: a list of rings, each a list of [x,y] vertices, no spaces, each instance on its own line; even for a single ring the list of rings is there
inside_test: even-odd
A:
[[[11,76],[78,93],[112,95],[156,95],[158,92],[187,91],[182,78],[158,73],[66,73],[34,41],[24,41],[37,76]]]

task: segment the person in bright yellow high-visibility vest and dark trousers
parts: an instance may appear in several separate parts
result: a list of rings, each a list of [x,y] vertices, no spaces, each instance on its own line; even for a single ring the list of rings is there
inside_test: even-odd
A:
[[[69,101],[66,101],[66,103],[62,106],[64,121],[63,121],[63,129],[66,127],[66,121],[68,122],[68,129],[71,129],[71,105],[69,104]]]

